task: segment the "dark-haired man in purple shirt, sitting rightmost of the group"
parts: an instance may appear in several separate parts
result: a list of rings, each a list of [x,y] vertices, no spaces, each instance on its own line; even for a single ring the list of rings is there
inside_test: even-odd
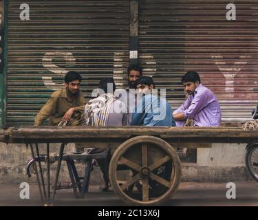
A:
[[[221,112],[213,92],[201,84],[197,72],[189,71],[182,77],[184,91],[189,94],[186,101],[173,112],[177,126],[184,126],[187,119],[193,126],[219,126]]]

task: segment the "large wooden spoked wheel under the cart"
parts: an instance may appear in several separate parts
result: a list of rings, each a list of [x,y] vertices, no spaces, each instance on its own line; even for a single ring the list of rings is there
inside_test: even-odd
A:
[[[122,173],[118,164],[132,172]],[[159,205],[169,199],[180,184],[181,173],[174,148],[159,137],[147,135],[122,143],[109,165],[114,192],[125,202],[140,206]]]

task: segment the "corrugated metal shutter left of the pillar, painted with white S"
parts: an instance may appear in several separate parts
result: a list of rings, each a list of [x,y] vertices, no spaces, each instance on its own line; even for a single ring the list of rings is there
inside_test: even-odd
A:
[[[30,7],[21,21],[20,5]],[[129,1],[9,1],[8,126],[33,124],[63,76],[83,76],[89,98],[98,80],[122,82],[129,59]]]

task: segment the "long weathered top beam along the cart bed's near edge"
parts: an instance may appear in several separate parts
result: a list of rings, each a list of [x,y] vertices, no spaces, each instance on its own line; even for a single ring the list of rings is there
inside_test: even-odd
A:
[[[167,137],[256,137],[258,131],[243,131],[225,127],[35,127],[12,129],[13,138],[76,138],[76,137],[130,137],[133,135],[158,135]]]

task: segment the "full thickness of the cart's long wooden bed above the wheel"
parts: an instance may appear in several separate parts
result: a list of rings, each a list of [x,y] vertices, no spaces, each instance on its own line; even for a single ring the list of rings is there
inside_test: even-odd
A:
[[[30,126],[10,128],[6,142],[110,142],[117,143],[137,135],[161,137],[169,143],[250,143],[258,142],[258,131],[243,131],[239,127],[94,127],[94,126]],[[196,144],[195,144],[196,145]],[[206,147],[205,145],[203,145]],[[202,147],[193,146],[193,148]]]

